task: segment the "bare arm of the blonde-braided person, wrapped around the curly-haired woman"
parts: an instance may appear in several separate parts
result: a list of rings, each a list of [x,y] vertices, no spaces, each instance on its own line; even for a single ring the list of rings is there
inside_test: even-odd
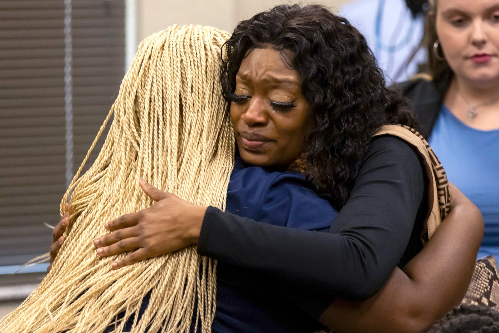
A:
[[[338,333],[421,332],[463,299],[482,234],[476,206],[457,205],[404,272],[396,269],[366,301],[336,300],[320,322]]]

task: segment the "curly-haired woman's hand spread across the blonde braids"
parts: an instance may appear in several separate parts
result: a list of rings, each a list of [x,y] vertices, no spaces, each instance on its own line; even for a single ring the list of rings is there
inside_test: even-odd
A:
[[[140,187],[156,203],[106,223],[104,227],[111,233],[94,240],[100,257],[131,251],[113,262],[113,269],[195,244],[201,231],[206,207],[160,191],[144,180]]]

